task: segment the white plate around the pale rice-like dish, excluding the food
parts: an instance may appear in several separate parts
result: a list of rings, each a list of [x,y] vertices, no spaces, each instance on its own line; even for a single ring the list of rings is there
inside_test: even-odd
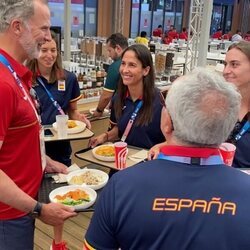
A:
[[[84,182],[82,182],[81,184],[75,184],[75,183],[70,182],[72,177],[80,176],[82,174],[85,174],[86,172],[90,174],[90,177],[93,176],[93,177],[98,178],[98,184],[88,185]],[[107,173],[105,173],[101,170],[85,168],[85,169],[70,172],[69,174],[67,174],[66,179],[67,179],[67,182],[69,185],[82,185],[82,186],[87,186],[87,187],[93,188],[94,190],[98,190],[107,184],[109,176]]]

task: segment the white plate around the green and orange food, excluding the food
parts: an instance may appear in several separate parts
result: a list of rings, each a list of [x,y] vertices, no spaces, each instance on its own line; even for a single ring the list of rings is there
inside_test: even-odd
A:
[[[89,202],[84,202],[84,203],[79,204],[79,205],[75,205],[75,206],[73,206],[74,208],[76,208],[76,209],[86,209],[88,207],[91,207],[95,203],[95,200],[96,200],[96,197],[97,197],[96,191],[94,189],[92,189],[92,188],[89,188],[89,187],[81,187],[81,186],[77,186],[77,185],[71,185],[71,186],[56,188],[56,189],[54,189],[53,191],[50,192],[49,199],[50,199],[51,202],[56,202],[57,203],[58,201],[55,199],[56,195],[64,195],[64,194],[66,194],[66,193],[68,193],[70,191],[75,191],[76,189],[80,189],[80,190],[85,191],[89,195],[90,201]]]

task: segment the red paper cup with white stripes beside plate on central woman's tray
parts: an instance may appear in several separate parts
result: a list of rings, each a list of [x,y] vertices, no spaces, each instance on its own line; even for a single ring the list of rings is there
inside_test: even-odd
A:
[[[128,154],[128,144],[126,142],[116,142],[115,146],[115,166],[117,169],[126,167],[126,159]]]

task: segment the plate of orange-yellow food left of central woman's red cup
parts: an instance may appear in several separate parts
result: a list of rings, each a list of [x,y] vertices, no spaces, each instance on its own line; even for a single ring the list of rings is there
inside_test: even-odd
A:
[[[101,161],[115,161],[114,144],[104,144],[92,149],[93,156]]]

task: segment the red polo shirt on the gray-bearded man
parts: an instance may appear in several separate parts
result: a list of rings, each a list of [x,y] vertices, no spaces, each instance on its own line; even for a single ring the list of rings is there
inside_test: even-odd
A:
[[[9,61],[29,93],[32,73],[1,49],[0,54]],[[33,198],[42,179],[39,129],[31,104],[24,99],[23,92],[7,67],[0,63],[0,141],[3,141],[0,169]],[[23,215],[23,212],[0,202],[0,220]]]

